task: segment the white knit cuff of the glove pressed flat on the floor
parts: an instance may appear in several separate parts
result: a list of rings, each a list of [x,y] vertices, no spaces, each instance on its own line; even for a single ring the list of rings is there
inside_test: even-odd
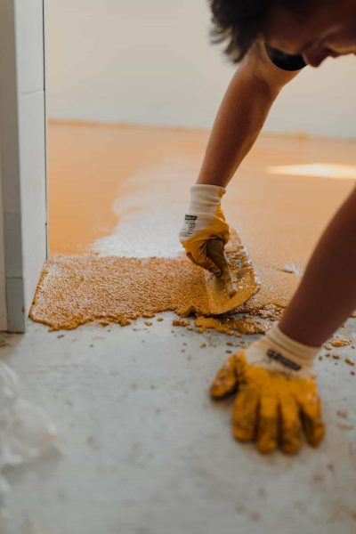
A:
[[[277,325],[254,345],[255,351],[247,349],[249,363],[301,378],[312,375],[313,361],[320,351],[320,347],[301,344],[286,336]]]

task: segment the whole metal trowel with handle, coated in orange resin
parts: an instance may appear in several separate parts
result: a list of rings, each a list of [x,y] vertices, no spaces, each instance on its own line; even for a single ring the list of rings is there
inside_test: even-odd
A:
[[[209,312],[212,315],[231,312],[257,293],[259,281],[236,232],[232,232],[226,247],[222,239],[209,239],[206,255],[221,271],[219,276],[205,271]]]

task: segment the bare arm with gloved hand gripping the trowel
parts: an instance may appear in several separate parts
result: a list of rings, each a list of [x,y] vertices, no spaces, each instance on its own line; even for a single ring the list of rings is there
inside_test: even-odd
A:
[[[187,256],[200,267],[220,273],[207,255],[209,239],[229,239],[220,200],[240,162],[260,133],[280,89],[298,71],[275,67],[264,44],[255,44],[247,54],[223,98],[206,147],[206,155],[191,188],[190,205],[180,232]]]

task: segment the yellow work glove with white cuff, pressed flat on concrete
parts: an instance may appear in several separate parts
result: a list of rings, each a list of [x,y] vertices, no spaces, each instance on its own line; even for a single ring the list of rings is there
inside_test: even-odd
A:
[[[325,427],[312,361],[319,348],[299,344],[273,327],[246,351],[226,361],[210,388],[214,399],[237,392],[232,432],[239,441],[256,441],[260,452],[278,445],[287,454],[306,440],[317,447]]]

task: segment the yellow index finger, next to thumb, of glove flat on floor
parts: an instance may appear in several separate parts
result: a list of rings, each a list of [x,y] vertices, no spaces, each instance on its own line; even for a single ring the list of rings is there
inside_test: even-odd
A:
[[[244,385],[232,413],[232,433],[237,440],[252,441],[255,438],[257,409],[258,391]]]

